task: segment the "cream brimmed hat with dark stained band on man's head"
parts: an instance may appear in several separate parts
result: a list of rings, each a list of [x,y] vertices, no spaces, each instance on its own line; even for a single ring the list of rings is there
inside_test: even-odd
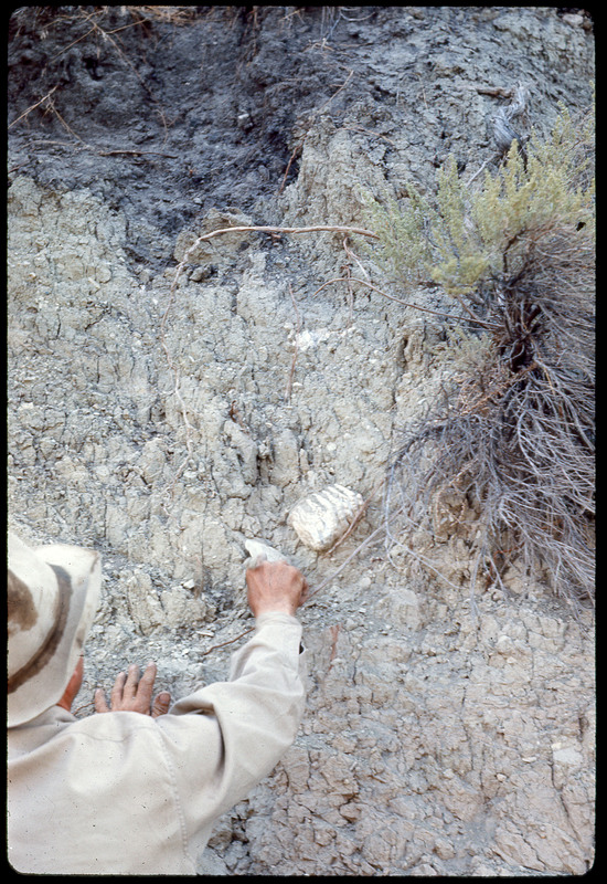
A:
[[[98,552],[65,544],[29,547],[9,533],[9,727],[31,720],[63,696],[100,586]]]

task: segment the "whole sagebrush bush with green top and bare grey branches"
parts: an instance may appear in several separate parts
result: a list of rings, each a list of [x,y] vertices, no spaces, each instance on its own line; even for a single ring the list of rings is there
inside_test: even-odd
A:
[[[436,188],[371,204],[379,260],[403,292],[433,282],[445,319],[443,397],[404,432],[388,512],[403,534],[478,514],[473,581],[514,565],[594,599],[594,114],[561,107],[550,138],[515,141],[467,187],[449,158]],[[392,532],[392,536],[394,533]]]

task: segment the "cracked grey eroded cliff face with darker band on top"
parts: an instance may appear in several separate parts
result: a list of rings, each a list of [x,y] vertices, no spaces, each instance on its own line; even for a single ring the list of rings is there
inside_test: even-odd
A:
[[[456,533],[449,583],[381,532],[347,564],[381,495],[332,554],[287,523],[310,491],[381,483],[439,388],[438,319],[349,287],[385,281],[330,231],[220,235],[175,271],[205,231],[365,227],[365,191],[428,186],[448,152],[472,176],[520,81],[545,131],[558,101],[588,103],[587,19],[75,9],[11,22],[8,344],[11,525],[104,556],[78,714],[131,661],[155,659],[174,696],[225,677],[231,645],[205,652],[251,625],[244,540],[263,538],[324,585],[301,610],[308,708],[200,871],[584,873],[590,615],[514,580],[470,599]]]

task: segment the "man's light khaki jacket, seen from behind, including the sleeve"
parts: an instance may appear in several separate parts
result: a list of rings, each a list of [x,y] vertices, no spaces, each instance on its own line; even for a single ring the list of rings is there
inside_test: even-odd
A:
[[[9,860],[18,872],[196,874],[217,817],[275,767],[305,703],[301,625],[262,614],[230,680],[167,715],[76,719],[60,706],[9,730]]]

